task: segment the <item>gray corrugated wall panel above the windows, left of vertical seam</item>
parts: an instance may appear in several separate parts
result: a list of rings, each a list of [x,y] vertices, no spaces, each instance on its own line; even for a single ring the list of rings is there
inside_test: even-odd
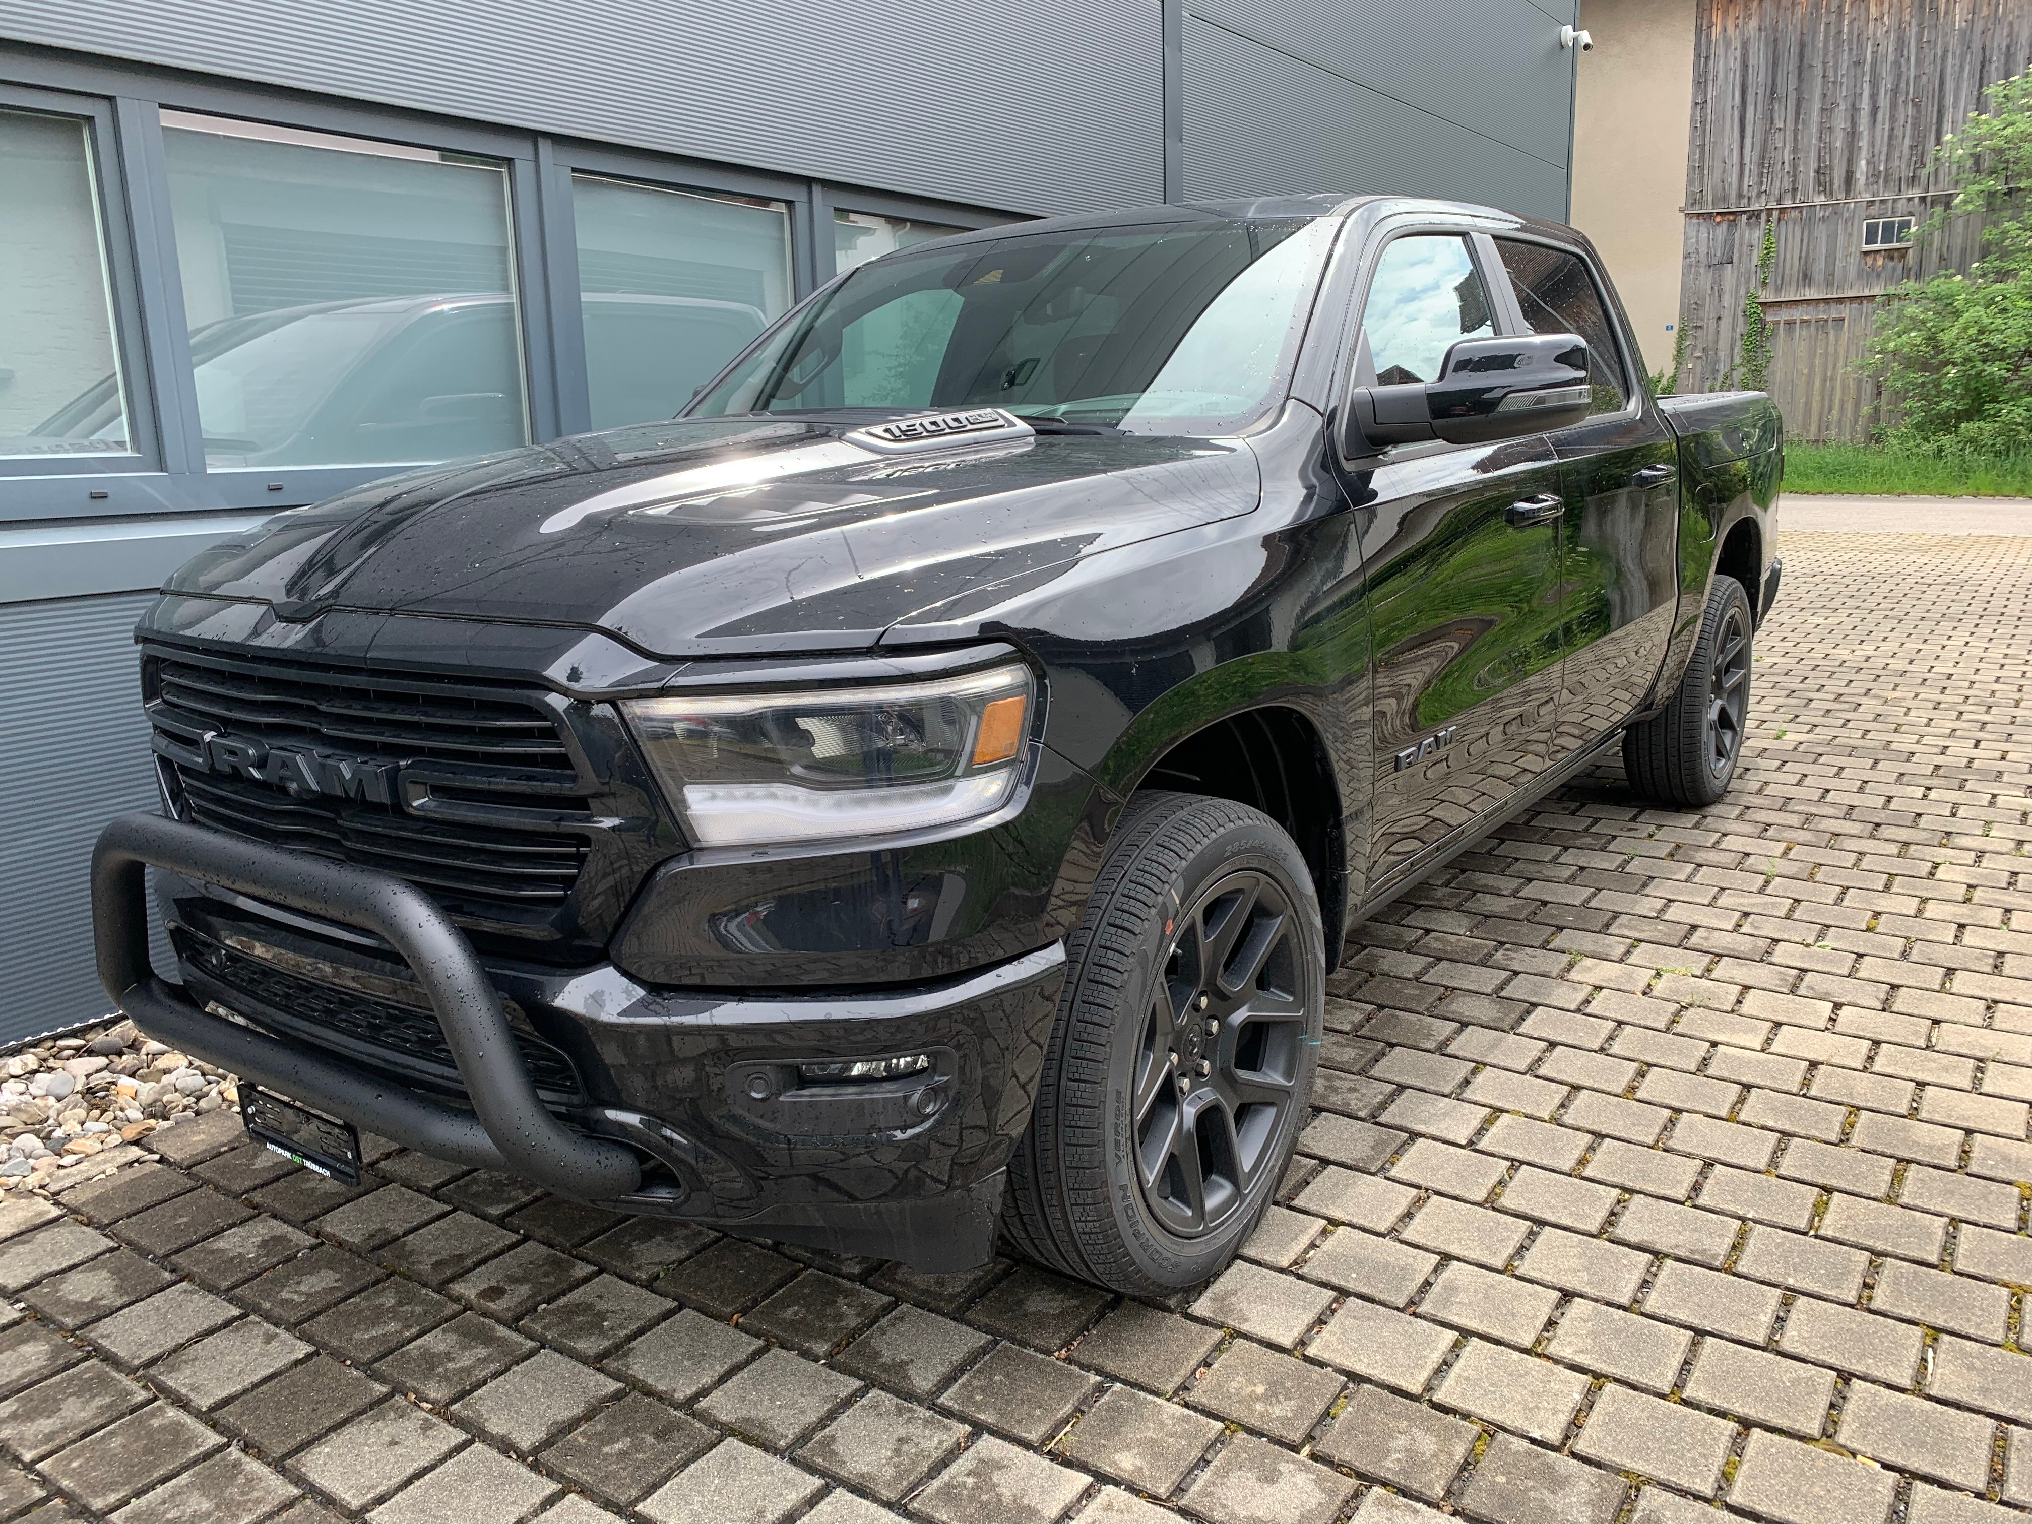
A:
[[[0,35],[1012,211],[1162,199],[1158,0],[10,0]]]

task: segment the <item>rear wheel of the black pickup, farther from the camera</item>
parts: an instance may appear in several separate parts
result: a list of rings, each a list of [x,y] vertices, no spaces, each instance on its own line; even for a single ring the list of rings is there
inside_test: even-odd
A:
[[[1624,732],[1624,774],[1640,795],[1687,809],[1729,790],[1750,723],[1754,632],[1743,585],[1717,577],[1672,701]]]

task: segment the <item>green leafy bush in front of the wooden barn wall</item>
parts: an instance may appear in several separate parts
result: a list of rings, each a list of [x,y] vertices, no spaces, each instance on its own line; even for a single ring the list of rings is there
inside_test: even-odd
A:
[[[1987,96],[1934,150],[1957,195],[1920,228],[1987,215],[1981,258],[1886,293],[1863,358],[1898,419],[1890,441],[1934,453],[2032,447],[2032,71]]]

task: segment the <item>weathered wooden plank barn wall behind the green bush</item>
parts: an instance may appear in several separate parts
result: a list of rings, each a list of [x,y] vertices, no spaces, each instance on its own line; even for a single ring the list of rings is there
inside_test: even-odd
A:
[[[1737,384],[1743,299],[1772,327],[1768,386],[1794,439],[1861,439],[1876,388],[1855,372],[1876,297],[1967,268],[1979,228],[1863,254],[1869,217],[1949,199],[1932,146],[1983,89],[2032,63],[2032,0],[1701,0],[1680,321],[1682,390]],[[1766,282],[1766,221],[1776,250]]]

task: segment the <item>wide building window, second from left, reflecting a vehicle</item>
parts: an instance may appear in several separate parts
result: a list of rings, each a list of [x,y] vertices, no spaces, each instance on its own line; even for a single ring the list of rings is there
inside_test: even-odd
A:
[[[187,112],[163,140],[209,467],[528,441],[506,165]]]

